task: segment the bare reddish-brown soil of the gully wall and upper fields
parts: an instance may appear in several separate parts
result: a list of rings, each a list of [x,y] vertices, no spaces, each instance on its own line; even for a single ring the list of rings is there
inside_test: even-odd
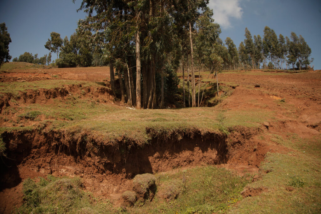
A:
[[[33,74],[25,73],[30,70],[2,73],[0,81],[54,78],[102,81],[109,77],[108,67],[37,70],[38,73]],[[261,127],[252,129],[234,127],[229,130],[231,134],[228,137],[220,133],[202,134],[195,130],[194,133],[181,133],[180,138],[172,134],[169,139],[164,140],[153,136],[152,130],[149,130],[152,140],[142,147],[131,146],[131,142],[118,142],[119,146],[115,147],[89,131],[3,133],[6,153],[10,159],[5,159],[0,169],[0,212],[10,213],[14,207],[22,205],[22,182],[28,177],[46,177],[48,174],[80,176],[87,191],[117,201],[122,192],[132,188],[130,179],[137,174],[205,164],[226,167],[238,173],[245,170],[257,173],[267,152],[289,151],[271,141],[271,134],[286,136],[288,133],[295,133],[302,138],[320,134],[320,71],[284,75],[222,73],[219,81],[237,82],[240,86],[217,106],[218,109],[276,109],[277,122],[266,121]],[[260,87],[255,88],[255,84]],[[76,85],[64,89],[27,91],[21,93],[17,105],[50,103],[52,99],[64,99],[70,93],[81,96],[79,86]],[[13,105],[10,103],[10,96],[12,95],[4,96],[0,109]],[[110,91],[105,88],[88,88],[86,96],[106,103],[113,102]],[[280,103],[281,99],[285,100],[285,104]],[[281,105],[289,105],[289,108]],[[0,122],[6,126],[5,121]],[[245,190],[243,195],[257,195],[262,191],[266,189]]]

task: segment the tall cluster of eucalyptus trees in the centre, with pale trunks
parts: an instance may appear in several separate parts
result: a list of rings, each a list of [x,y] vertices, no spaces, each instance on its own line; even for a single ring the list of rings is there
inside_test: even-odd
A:
[[[213,23],[207,4],[208,0],[83,0],[79,10],[88,16],[79,21],[77,33],[94,32],[88,39],[110,64],[113,91],[116,69],[123,101],[138,109],[164,107],[164,98],[175,99],[174,71],[181,64],[184,80],[187,68],[192,99],[188,103],[195,107],[195,69],[221,70],[220,52],[227,50],[218,39],[221,29]],[[183,93],[185,106],[185,81]]]

